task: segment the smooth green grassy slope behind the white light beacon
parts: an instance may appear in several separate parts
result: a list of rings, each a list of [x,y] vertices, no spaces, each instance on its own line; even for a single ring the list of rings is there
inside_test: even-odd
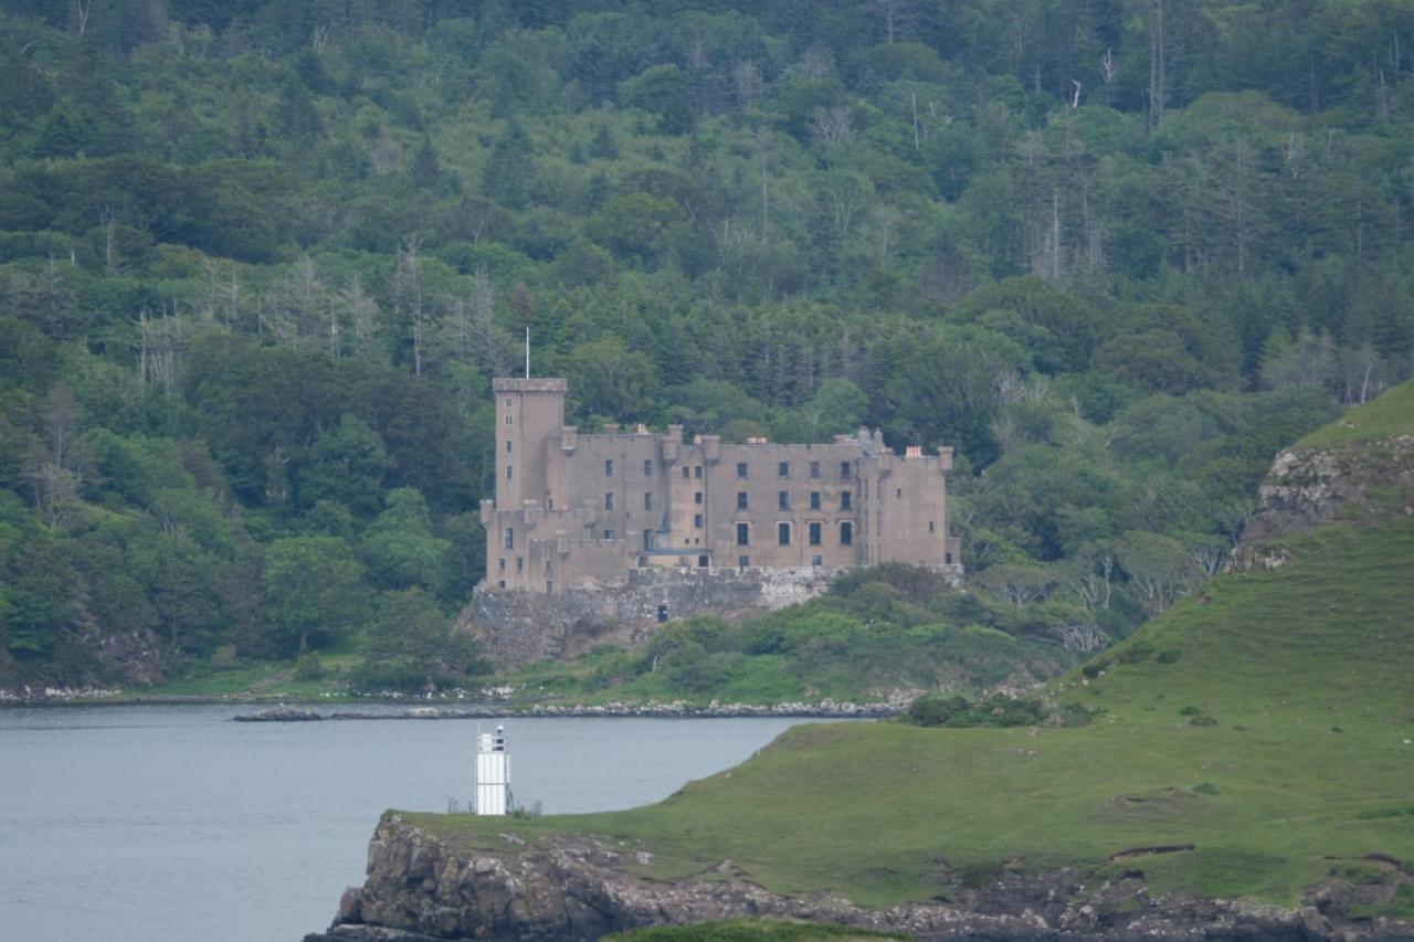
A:
[[[1056,696],[1107,710],[1089,727],[796,727],[659,805],[505,827],[642,842],[656,854],[643,870],[662,877],[730,857],[768,888],[874,905],[935,895],[939,861],[964,880],[1015,859],[1106,870],[1126,849],[1192,843],[1145,857],[1150,880],[1288,904],[1366,854],[1408,861],[1414,516],[1401,506],[1284,537],[1281,569],[1219,577],[1106,652],[1094,680],[1059,683]],[[478,840],[465,819],[419,819]]]

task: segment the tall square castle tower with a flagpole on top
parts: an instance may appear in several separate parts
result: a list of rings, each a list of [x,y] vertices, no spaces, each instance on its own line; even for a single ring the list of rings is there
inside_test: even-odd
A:
[[[550,508],[549,438],[564,427],[564,379],[492,379],[496,397],[496,509]]]

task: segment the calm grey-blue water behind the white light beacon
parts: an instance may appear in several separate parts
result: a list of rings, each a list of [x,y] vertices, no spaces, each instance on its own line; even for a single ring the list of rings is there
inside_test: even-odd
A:
[[[245,710],[0,709],[0,938],[296,942],[363,881],[383,809],[472,793],[475,720],[228,721]],[[508,721],[512,782],[546,812],[629,808],[790,723]]]

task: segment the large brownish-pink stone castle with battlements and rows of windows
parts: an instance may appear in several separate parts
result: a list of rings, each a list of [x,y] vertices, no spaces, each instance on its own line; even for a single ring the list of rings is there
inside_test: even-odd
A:
[[[496,496],[481,502],[478,593],[560,595],[652,570],[667,583],[889,560],[962,571],[947,533],[952,448],[896,455],[864,429],[824,444],[684,441],[682,426],[580,434],[564,424],[567,389],[492,380]]]

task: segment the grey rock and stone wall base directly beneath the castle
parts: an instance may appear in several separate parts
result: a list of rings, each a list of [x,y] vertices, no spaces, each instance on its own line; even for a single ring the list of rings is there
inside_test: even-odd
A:
[[[809,601],[843,571],[635,569],[624,581],[571,586],[554,595],[478,586],[457,627],[502,663],[520,666],[574,658],[601,644],[638,648],[658,625],[659,605],[667,605],[670,618],[740,618]]]

